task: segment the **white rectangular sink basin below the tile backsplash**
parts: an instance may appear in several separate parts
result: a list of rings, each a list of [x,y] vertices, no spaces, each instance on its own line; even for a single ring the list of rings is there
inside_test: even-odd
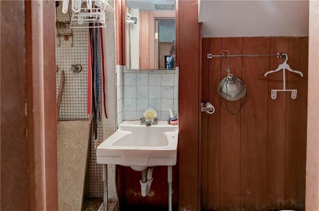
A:
[[[178,125],[167,121],[141,125],[139,120],[126,120],[97,147],[97,163],[131,166],[137,171],[148,166],[175,165],[177,142]]]

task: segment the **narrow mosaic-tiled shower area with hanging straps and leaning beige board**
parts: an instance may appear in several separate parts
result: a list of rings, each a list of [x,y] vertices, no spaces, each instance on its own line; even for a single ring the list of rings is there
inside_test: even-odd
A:
[[[96,147],[116,130],[115,107],[107,106],[114,105],[116,81],[113,0],[101,1],[101,8],[109,7],[103,11],[105,23],[85,19],[81,12],[98,1],[90,1],[93,6],[82,1],[80,12],[74,12],[73,1],[55,2],[59,210],[100,211],[103,178]],[[115,167],[108,170],[112,177]],[[110,188],[109,210],[115,206],[116,192]]]

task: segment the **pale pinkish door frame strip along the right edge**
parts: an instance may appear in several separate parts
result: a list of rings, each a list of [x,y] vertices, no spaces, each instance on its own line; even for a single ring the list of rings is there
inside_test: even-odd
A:
[[[309,1],[306,210],[319,210],[319,1]]]

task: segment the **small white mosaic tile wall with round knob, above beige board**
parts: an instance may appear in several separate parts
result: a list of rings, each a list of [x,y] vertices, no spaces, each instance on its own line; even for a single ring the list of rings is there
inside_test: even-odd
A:
[[[59,29],[59,33],[67,33],[70,29]],[[58,94],[62,70],[64,70],[64,89],[59,110],[58,120],[86,119],[87,114],[87,52],[88,29],[73,29],[72,39],[65,41],[63,37],[56,37],[55,61],[58,71],[56,73],[56,93]],[[60,45],[60,46],[58,46]],[[73,73],[71,65],[80,64],[82,71]]]

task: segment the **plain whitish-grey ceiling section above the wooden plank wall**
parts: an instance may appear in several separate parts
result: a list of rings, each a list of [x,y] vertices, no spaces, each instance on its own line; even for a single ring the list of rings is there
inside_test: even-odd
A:
[[[308,36],[308,0],[199,0],[203,37]]]

